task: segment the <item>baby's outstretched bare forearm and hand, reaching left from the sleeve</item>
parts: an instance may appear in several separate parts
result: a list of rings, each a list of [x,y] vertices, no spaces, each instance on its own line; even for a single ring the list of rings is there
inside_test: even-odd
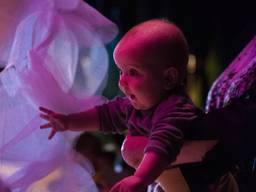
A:
[[[96,108],[90,110],[64,115],[55,113],[49,109],[40,107],[40,117],[46,121],[46,124],[41,125],[41,129],[51,128],[49,139],[51,139],[58,131],[98,131],[99,117]]]

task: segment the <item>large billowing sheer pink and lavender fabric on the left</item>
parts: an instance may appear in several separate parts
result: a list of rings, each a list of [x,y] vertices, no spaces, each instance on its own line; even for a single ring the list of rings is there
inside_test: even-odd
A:
[[[90,163],[72,150],[79,133],[49,141],[38,106],[71,113],[102,103],[104,44],[116,34],[82,0],[1,0],[0,191],[97,191]]]

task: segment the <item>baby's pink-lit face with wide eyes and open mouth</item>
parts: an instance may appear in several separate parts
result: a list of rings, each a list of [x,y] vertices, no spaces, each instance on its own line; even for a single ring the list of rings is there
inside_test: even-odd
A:
[[[123,49],[122,52],[118,49],[117,47],[114,52],[114,58],[120,70],[121,91],[135,109],[147,110],[158,104],[166,92],[162,70],[151,67],[154,61],[149,62],[148,58],[141,58],[129,48]]]

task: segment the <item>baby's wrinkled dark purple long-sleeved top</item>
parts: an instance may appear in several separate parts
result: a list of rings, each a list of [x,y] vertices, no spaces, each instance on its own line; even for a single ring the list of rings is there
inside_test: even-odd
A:
[[[103,132],[147,136],[145,152],[154,151],[169,162],[176,159],[184,139],[192,134],[194,120],[202,112],[186,94],[171,95],[157,106],[140,111],[127,98],[116,99],[97,107]]]

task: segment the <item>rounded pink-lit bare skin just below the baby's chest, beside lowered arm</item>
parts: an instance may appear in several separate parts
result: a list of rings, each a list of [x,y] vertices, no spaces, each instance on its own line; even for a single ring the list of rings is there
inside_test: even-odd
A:
[[[140,164],[148,138],[144,136],[126,136],[121,153],[124,161],[133,168]]]

